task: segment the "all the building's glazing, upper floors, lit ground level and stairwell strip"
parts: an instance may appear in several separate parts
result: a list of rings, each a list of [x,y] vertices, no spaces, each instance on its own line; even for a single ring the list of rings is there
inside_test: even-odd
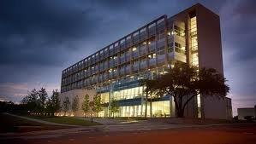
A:
[[[197,51],[196,18],[191,19],[191,48]],[[187,61],[185,23],[153,20],[104,49],[63,70],[62,92],[96,89],[104,108],[100,117],[110,117],[110,102],[118,101],[116,117],[170,117],[170,98],[148,100],[138,80],[158,78],[176,60]],[[197,53],[192,56],[198,66]]]

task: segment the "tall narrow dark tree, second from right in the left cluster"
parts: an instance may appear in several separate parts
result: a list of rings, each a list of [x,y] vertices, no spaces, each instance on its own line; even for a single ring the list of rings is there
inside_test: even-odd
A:
[[[41,88],[38,91],[38,101],[39,101],[39,112],[43,113],[46,110],[46,100],[47,100],[47,92],[45,88]]]

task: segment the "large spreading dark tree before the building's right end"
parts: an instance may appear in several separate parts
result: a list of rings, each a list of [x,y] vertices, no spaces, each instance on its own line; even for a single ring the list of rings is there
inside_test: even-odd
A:
[[[189,66],[177,62],[168,73],[157,79],[152,91],[155,95],[170,95],[174,98],[176,116],[184,117],[184,109],[188,102],[197,95],[224,97],[229,92],[226,79],[215,69]]]

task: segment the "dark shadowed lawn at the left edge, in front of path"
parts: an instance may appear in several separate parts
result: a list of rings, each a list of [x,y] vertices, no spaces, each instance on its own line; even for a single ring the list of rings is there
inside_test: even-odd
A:
[[[68,126],[40,124],[24,118],[17,118],[0,113],[0,133],[21,133],[37,130],[57,130],[70,128]]]

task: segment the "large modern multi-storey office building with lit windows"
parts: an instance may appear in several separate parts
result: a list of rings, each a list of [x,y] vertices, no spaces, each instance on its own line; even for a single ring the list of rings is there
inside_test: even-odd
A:
[[[199,3],[170,17],[164,14],[64,69],[62,97],[79,95],[82,100],[89,90],[101,96],[104,111],[100,116],[110,116],[110,100],[115,99],[120,107],[116,116],[144,117],[144,88],[138,80],[156,78],[176,61],[212,67],[223,74],[219,16]],[[232,117],[231,109],[229,98],[198,95],[186,107],[185,115],[225,119]],[[151,111],[148,117],[174,117],[172,97],[154,99]]]

